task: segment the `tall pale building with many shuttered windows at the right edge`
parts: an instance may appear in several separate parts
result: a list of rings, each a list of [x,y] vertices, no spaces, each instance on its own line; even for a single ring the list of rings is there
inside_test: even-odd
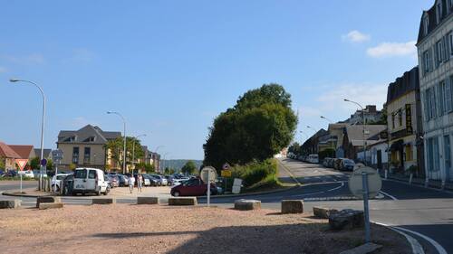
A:
[[[453,181],[453,5],[437,0],[421,15],[417,50],[427,180]]]

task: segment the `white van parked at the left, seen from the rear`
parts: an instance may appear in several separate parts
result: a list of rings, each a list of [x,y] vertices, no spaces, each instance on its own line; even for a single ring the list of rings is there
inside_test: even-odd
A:
[[[97,168],[76,168],[74,171],[74,186],[72,194],[95,193],[107,195],[110,192],[109,183],[105,181],[104,172]]]

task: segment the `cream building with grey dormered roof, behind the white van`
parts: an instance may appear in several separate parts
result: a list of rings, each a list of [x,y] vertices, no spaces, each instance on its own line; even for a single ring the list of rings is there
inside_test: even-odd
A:
[[[107,142],[121,136],[117,131],[103,131],[100,127],[87,125],[79,130],[62,130],[58,134],[57,148],[63,151],[61,169],[71,166],[92,166],[104,169],[120,168],[106,150]]]

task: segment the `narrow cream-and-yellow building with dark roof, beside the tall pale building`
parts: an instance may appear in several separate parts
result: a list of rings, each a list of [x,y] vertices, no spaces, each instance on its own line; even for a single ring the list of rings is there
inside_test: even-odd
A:
[[[404,173],[411,166],[416,166],[417,176],[423,176],[419,67],[406,71],[389,84],[386,104],[390,169]]]

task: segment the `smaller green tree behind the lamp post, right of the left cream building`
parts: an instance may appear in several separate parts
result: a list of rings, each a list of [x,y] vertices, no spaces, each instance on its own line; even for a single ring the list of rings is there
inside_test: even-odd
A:
[[[115,160],[117,165],[122,165],[122,151],[124,146],[124,139],[122,136],[119,136],[113,140],[107,142],[106,148],[111,150],[111,158]],[[140,140],[135,137],[128,136],[126,137],[126,164],[132,164],[132,148],[135,146],[135,161],[139,158],[142,158],[144,151],[141,148]]]

